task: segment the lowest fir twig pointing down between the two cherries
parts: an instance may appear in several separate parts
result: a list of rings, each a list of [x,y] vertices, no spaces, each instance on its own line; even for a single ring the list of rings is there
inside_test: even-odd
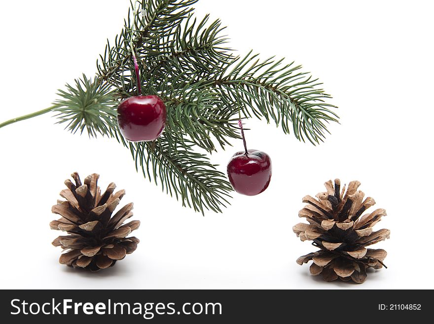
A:
[[[205,210],[221,213],[232,191],[225,175],[206,155],[193,150],[194,143],[184,140],[176,154],[172,146],[165,134],[151,143],[129,143],[136,169],[141,169],[145,178],[160,183],[163,191],[182,201],[182,206],[202,214]]]

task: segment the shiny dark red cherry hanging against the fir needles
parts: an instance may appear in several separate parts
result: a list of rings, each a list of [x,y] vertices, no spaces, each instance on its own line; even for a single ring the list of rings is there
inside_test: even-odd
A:
[[[166,126],[166,105],[158,96],[127,98],[117,108],[117,122],[128,141],[153,141]]]

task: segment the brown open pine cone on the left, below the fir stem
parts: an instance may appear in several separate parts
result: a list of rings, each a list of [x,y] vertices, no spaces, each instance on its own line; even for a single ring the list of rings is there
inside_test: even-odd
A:
[[[51,209],[62,217],[50,223],[51,229],[64,231],[68,235],[59,236],[52,244],[67,251],[60,256],[61,264],[91,271],[106,269],[137,249],[139,239],[127,238],[127,235],[139,227],[140,221],[133,220],[122,225],[133,216],[133,203],[112,216],[125,190],[113,193],[116,185],[110,183],[106,192],[101,194],[97,185],[99,175],[88,176],[84,184],[81,184],[77,173],[71,177],[75,183],[65,180],[68,189],[60,192],[66,201],[58,200]]]

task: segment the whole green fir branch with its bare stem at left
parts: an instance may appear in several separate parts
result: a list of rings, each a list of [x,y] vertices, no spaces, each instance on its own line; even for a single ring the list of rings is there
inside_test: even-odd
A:
[[[115,138],[131,151],[137,170],[195,211],[221,212],[232,191],[225,175],[196,152],[216,151],[240,138],[238,114],[273,120],[285,133],[318,144],[327,123],[337,122],[335,106],[321,83],[301,66],[252,52],[234,57],[219,20],[196,20],[197,0],[140,0],[131,3],[124,27],[97,61],[97,76],[59,90],[54,106],[17,117],[0,127],[49,111],[72,133]],[[131,45],[132,44],[132,45]],[[132,48],[133,47],[133,48]],[[136,95],[132,60],[140,65],[143,94],[159,95],[167,106],[167,126],[152,143],[129,143],[119,133],[119,100]]]

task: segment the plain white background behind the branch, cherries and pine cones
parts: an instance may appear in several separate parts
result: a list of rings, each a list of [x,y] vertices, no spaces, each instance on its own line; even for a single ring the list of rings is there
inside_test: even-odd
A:
[[[46,108],[122,28],[128,0],[1,1],[1,119]],[[250,120],[247,143],[273,161],[269,188],[234,195],[223,214],[181,207],[137,174],[127,149],[53,125],[48,115],[0,129],[1,288],[434,288],[433,19],[431,1],[201,0],[231,46],[285,56],[324,82],[339,106],[324,144],[302,144]],[[213,154],[224,171],[242,147]],[[50,209],[73,171],[125,188],[141,228],[136,252],[99,273],[58,263]],[[315,251],[292,232],[301,198],[326,180],[360,180],[388,216],[388,269],[362,285],[325,283],[295,259]],[[374,208],[375,208],[374,207]],[[373,208],[373,209],[374,209]]]

